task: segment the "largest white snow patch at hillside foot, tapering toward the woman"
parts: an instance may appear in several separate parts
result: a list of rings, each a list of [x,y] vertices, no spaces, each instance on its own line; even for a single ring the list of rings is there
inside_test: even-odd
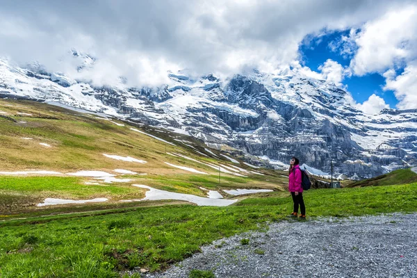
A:
[[[181,201],[191,202],[197,204],[197,206],[229,206],[230,204],[236,203],[238,200],[230,200],[230,199],[211,199],[206,197],[199,197],[190,194],[182,194],[182,193],[173,193],[165,190],[155,189],[149,186],[142,186],[138,184],[133,184],[138,188],[145,188],[148,191],[145,193],[146,197],[142,200],[169,200],[169,199],[177,199]]]

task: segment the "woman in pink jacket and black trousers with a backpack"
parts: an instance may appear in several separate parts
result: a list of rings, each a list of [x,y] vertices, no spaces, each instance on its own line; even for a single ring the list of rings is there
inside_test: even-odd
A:
[[[290,170],[288,170],[288,190],[293,196],[294,211],[290,217],[296,218],[298,215],[298,207],[300,206],[300,219],[306,219],[306,207],[304,206],[304,199],[302,199],[302,173],[300,169],[300,161],[293,157],[290,160]]]

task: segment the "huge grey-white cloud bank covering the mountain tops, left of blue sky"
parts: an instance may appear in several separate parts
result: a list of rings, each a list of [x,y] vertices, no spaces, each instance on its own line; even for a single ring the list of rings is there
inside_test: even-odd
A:
[[[296,60],[306,35],[356,28],[404,2],[4,1],[0,56],[38,60],[67,73],[72,63],[63,55],[75,48],[101,60],[100,67],[82,73],[97,83],[113,83],[120,75],[137,85],[163,83],[174,68],[198,74],[270,70]],[[333,71],[325,76],[340,80]]]

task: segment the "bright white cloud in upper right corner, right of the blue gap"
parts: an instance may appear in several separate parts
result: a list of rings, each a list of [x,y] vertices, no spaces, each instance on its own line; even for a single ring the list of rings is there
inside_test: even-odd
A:
[[[364,24],[354,37],[358,50],[351,61],[354,74],[384,72],[417,57],[417,5],[390,10]]]

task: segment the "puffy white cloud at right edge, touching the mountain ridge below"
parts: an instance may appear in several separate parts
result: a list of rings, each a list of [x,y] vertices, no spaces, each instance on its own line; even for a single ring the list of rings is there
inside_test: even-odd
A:
[[[395,97],[400,101],[397,108],[417,108],[417,60],[409,63],[399,76],[395,76],[395,72],[389,70],[384,73],[384,77],[384,90],[393,90]]]

